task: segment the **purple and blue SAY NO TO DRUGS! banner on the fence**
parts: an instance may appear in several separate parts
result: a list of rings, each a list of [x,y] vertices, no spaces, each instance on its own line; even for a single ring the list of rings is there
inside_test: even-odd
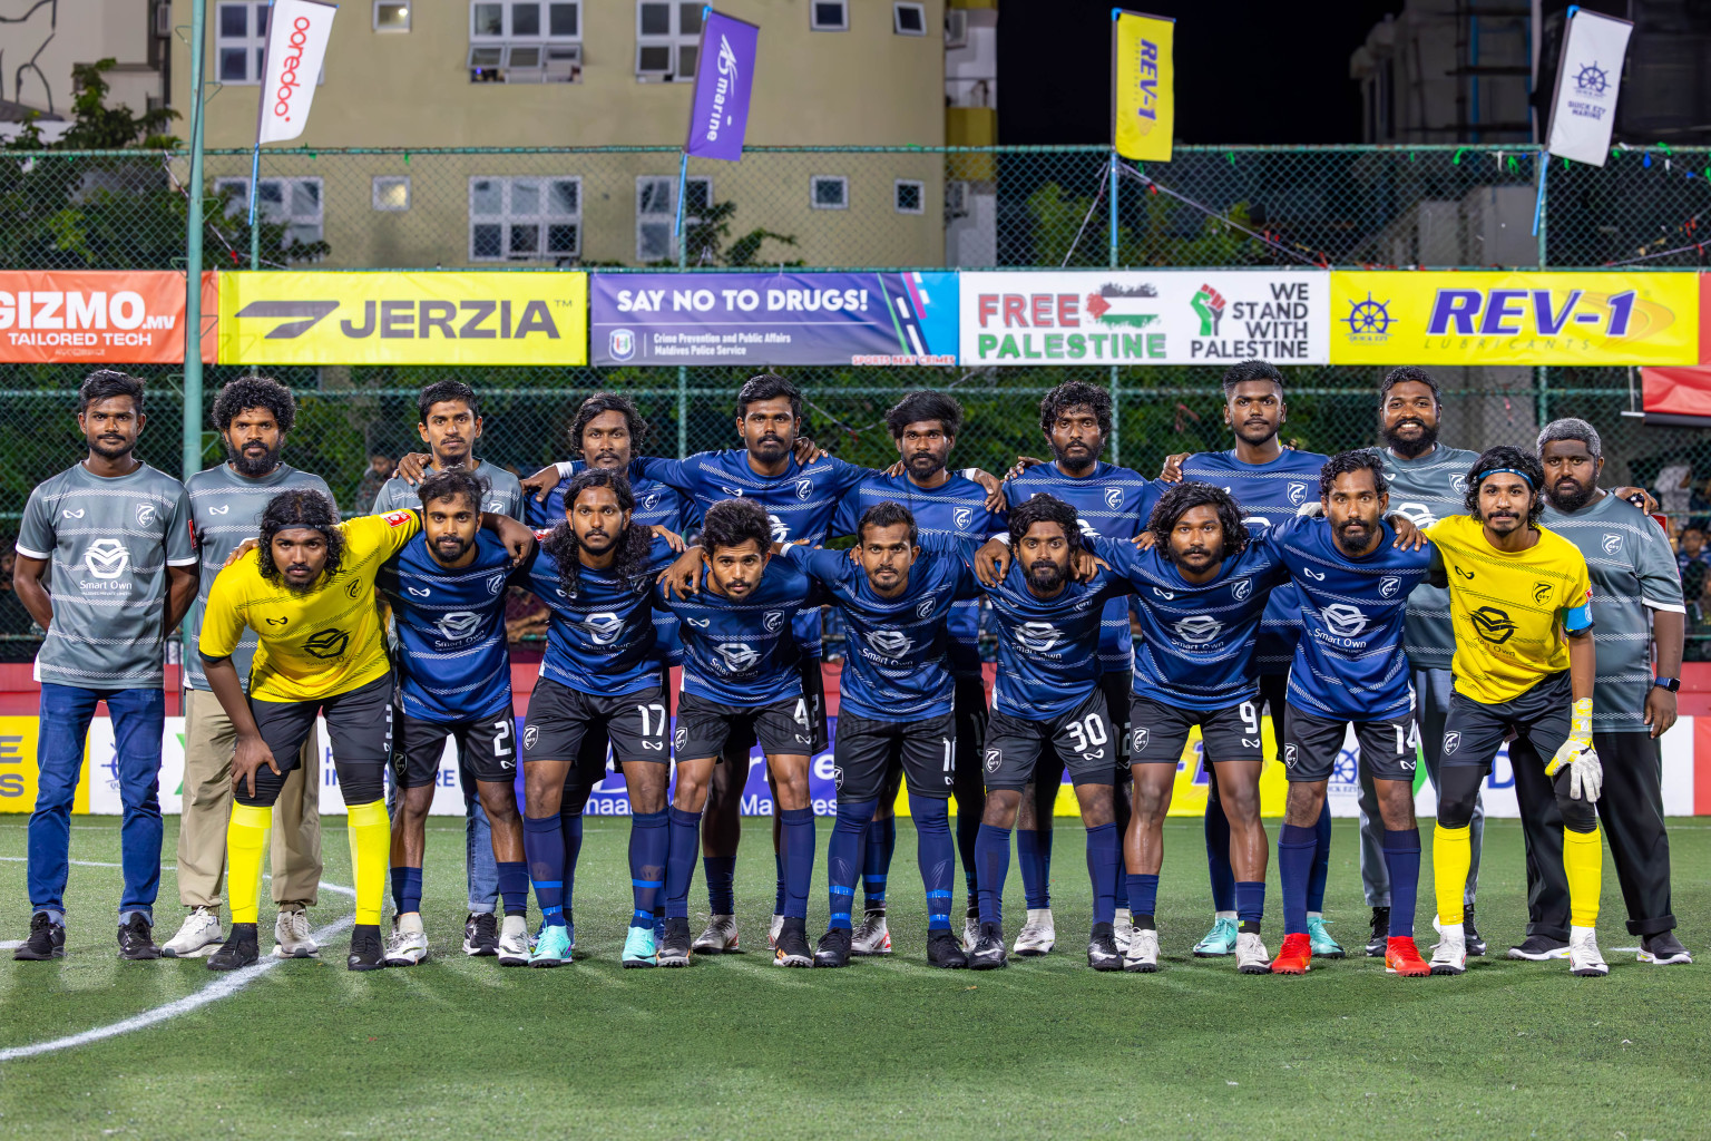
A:
[[[595,274],[595,364],[955,364],[956,274]]]

